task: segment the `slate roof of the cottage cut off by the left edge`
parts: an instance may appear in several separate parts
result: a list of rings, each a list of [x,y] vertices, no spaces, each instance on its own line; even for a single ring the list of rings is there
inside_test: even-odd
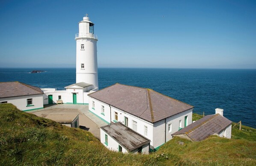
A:
[[[0,82],[0,98],[43,94],[39,87],[21,82]]]

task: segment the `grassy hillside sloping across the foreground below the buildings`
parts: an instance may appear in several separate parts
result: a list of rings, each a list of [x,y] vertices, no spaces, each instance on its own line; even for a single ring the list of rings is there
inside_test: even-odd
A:
[[[255,138],[247,140],[242,134],[200,143],[174,138],[149,155],[122,154],[107,150],[87,131],[1,104],[0,165],[255,165]]]

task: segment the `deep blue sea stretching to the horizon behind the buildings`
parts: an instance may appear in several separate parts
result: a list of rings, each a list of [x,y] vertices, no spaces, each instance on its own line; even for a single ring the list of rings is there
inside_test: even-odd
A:
[[[30,73],[45,70],[43,73]],[[75,68],[0,68],[0,82],[19,81],[40,88],[75,83]],[[256,70],[99,68],[99,89],[115,83],[153,89],[193,105],[194,113],[223,108],[233,122],[256,128]]]

